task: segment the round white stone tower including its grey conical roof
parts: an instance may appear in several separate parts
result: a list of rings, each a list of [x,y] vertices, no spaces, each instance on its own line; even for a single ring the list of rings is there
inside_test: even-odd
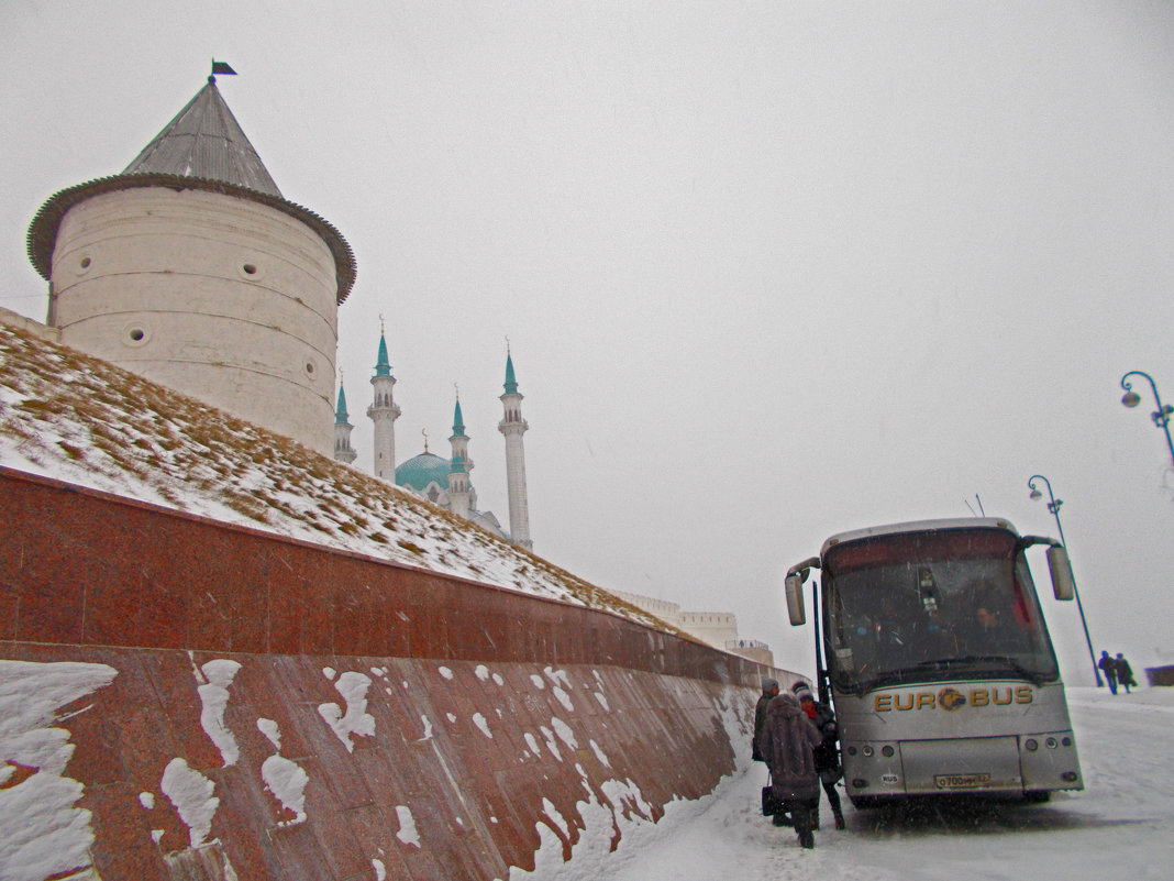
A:
[[[215,78],[121,174],[53,195],[28,254],[62,343],[332,455],[355,256],[282,196]]]

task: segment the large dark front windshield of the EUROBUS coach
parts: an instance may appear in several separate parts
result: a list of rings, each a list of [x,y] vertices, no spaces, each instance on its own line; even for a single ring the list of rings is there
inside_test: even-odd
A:
[[[1012,532],[912,532],[834,546],[824,637],[836,687],[1059,678],[1027,561]]]

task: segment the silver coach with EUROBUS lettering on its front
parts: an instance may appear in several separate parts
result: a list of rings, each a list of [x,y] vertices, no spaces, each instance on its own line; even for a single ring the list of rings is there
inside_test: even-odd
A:
[[[857,807],[912,795],[1082,789],[1064,682],[1027,567],[1047,545],[1057,599],[1065,549],[997,518],[843,532],[787,573],[792,625],[812,585],[821,700],[839,724]],[[824,665],[824,659],[826,664]]]

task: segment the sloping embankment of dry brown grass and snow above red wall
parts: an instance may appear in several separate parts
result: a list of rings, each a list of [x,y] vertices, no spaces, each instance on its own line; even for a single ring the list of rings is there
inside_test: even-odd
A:
[[[399,487],[4,322],[0,464],[672,630]]]

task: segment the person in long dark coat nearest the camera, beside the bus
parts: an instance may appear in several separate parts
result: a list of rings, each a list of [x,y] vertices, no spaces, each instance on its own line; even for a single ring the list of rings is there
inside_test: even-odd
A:
[[[783,692],[767,706],[758,752],[770,767],[770,789],[795,822],[799,845],[815,847],[811,815],[819,795],[815,748],[823,740],[819,729],[799,708],[798,699]]]

